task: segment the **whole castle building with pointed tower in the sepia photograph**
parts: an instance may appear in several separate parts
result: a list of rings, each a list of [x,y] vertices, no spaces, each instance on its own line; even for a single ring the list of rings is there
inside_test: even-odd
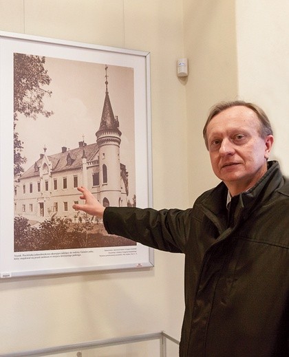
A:
[[[127,206],[128,173],[120,163],[121,131],[107,89],[96,142],[78,142],[76,149],[62,147],[53,155],[44,153],[25,171],[14,186],[14,215],[43,221],[54,213],[74,217],[78,186],[92,191],[103,206]]]

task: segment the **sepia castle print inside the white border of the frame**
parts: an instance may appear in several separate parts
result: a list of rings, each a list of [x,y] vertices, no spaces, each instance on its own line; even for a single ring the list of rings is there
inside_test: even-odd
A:
[[[14,251],[136,245],[76,212],[136,206],[133,68],[14,53]]]

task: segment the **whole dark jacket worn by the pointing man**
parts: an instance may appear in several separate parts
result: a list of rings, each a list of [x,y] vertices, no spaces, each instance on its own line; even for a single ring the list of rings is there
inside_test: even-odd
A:
[[[224,183],[187,210],[105,209],[107,232],[184,253],[181,357],[289,356],[289,181],[269,166],[229,209]]]

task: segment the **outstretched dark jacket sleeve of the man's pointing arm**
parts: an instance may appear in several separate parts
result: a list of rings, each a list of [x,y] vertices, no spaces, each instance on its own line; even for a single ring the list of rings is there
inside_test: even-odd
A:
[[[167,252],[184,252],[189,211],[107,207],[103,223],[109,234],[120,235]]]

